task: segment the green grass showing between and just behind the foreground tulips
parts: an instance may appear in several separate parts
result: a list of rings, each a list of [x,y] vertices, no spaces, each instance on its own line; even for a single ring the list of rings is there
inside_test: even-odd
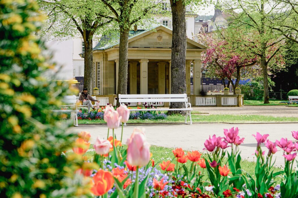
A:
[[[92,146],[90,146],[90,147],[92,147]],[[123,145],[123,148],[126,148],[126,145]],[[161,163],[162,161],[172,160],[172,158],[174,157],[174,155],[172,153],[173,149],[174,148],[158,147],[158,146],[151,145],[150,152],[153,154],[152,158],[154,159],[155,164],[157,164],[156,168],[161,170],[160,167],[158,166],[159,163]],[[199,151],[199,152],[202,152],[202,151]],[[91,158],[91,156],[93,156],[94,153],[95,153],[94,151],[89,151],[85,155],[87,155],[88,158]],[[187,151],[185,151],[185,154],[187,154]],[[204,154],[202,156],[204,156]],[[223,161],[224,164],[226,163],[226,160],[227,159],[224,158],[224,161]],[[172,161],[172,163],[176,164],[175,159]],[[181,164],[179,164],[179,166],[180,165]],[[245,172],[248,172],[250,175],[254,176],[254,168],[255,168],[255,165],[256,165],[255,162],[242,160],[240,165],[241,165],[242,169]],[[190,168],[191,161],[188,160],[187,163],[186,163],[186,166],[188,168]],[[201,169],[200,166],[197,166],[197,168],[199,168],[199,170],[202,172],[203,175],[207,174],[206,170]],[[281,168],[278,168],[278,167],[274,167],[273,169],[274,169],[274,172],[282,170]],[[206,176],[205,179],[207,179],[207,176]]]

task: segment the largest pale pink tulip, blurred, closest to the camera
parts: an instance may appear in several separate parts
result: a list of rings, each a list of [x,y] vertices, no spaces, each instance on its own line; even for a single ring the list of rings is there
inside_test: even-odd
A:
[[[132,166],[145,166],[150,161],[150,145],[145,133],[140,128],[134,128],[127,141],[127,161]]]

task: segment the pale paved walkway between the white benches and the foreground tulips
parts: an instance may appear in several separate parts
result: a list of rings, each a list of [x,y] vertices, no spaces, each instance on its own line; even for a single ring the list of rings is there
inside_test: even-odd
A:
[[[254,160],[256,141],[252,134],[260,132],[261,134],[268,133],[272,142],[282,137],[294,140],[291,131],[298,130],[297,123],[273,123],[273,124],[223,124],[223,123],[209,123],[209,124],[162,124],[162,125],[127,125],[124,127],[123,143],[126,143],[135,127],[144,127],[147,140],[151,145],[162,147],[182,147],[185,150],[199,150],[203,151],[204,142],[209,135],[216,134],[217,136],[224,136],[224,128],[239,128],[240,137],[244,137],[244,144],[240,146],[242,158],[250,161]],[[89,131],[91,133],[91,143],[95,142],[97,136],[106,139],[107,127],[106,125],[80,125],[79,127],[72,127],[69,129],[73,132]],[[110,133],[111,134],[111,133]],[[115,130],[115,134],[120,138],[121,128]],[[263,147],[263,150],[267,148]],[[279,149],[280,150],[280,149]],[[284,164],[282,152],[275,154],[277,156],[276,165]]]

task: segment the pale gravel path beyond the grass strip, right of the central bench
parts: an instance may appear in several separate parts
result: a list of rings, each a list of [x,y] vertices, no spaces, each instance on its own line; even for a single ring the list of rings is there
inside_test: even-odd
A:
[[[244,106],[244,107],[193,107],[194,111],[209,114],[266,115],[275,117],[298,117],[298,107]],[[298,121],[298,119],[297,119]]]

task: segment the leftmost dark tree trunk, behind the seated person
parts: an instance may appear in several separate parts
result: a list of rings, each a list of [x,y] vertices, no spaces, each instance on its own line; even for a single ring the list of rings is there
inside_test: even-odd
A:
[[[94,85],[94,66],[92,53],[92,39],[84,40],[84,88],[88,89],[89,94],[93,94]]]

